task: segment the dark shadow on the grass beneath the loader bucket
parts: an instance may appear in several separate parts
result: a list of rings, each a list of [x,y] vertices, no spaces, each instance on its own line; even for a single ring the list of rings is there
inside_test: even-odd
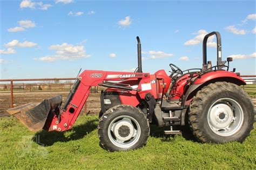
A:
[[[98,119],[93,119],[86,121],[84,124],[77,125],[70,130],[72,133],[67,136],[65,136],[65,133],[67,132],[41,131],[35,134],[37,138],[33,138],[33,141],[37,142],[38,144],[51,146],[55,144],[55,142],[67,142],[70,140],[81,139],[97,128],[97,121]]]

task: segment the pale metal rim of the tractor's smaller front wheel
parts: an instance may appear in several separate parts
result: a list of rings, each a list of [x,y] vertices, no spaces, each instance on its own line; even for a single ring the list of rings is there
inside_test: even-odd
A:
[[[120,115],[111,121],[107,134],[112,144],[117,147],[131,147],[139,140],[139,123],[129,115]]]

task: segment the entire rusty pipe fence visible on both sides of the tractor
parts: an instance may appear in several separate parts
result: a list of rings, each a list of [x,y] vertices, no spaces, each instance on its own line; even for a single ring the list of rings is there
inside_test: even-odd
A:
[[[242,86],[242,88],[248,92],[251,97],[256,97],[256,75],[242,75],[240,76],[244,78],[248,85]],[[72,87],[72,82],[76,78],[36,78],[36,79],[0,79],[0,112],[2,110],[6,110],[8,108],[12,108],[17,105],[25,104],[25,101],[19,101],[23,97],[17,96],[14,97],[14,93],[26,93],[32,94],[33,92],[59,92],[64,93],[70,91]],[[21,82],[22,81],[22,82]],[[29,83],[29,81],[31,83]],[[64,81],[64,82],[62,82]],[[65,81],[71,81],[69,83]],[[1,82],[6,82],[2,83]],[[99,87],[91,87],[91,92],[98,93]],[[3,95],[9,94],[10,95]],[[37,94],[38,95],[38,94]],[[27,99],[42,99],[42,98],[49,98],[52,96],[26,96]],[[2,101],[4,100],[4,101]],[[14,101],[17,101],[14,103]],[[87,101],[91,103],[96,103],[98,101]],[[3,107],[3,105],[5,107]],[[6,107],[8,105],[8,108]],[[91,106],[93,107],[93,106]],[[86,109],[86,108],[85,108]]]

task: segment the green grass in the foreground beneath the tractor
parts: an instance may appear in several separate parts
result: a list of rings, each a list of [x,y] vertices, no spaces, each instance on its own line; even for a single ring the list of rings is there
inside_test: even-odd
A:
[[[97,116],[82,115],[71,131],[32,133],[14,117],[0,118],[0,169],[256,169],[255,130],[242,144],[217,145],[152,127],[145,147],[111,153],[99,146],[97,125]]]

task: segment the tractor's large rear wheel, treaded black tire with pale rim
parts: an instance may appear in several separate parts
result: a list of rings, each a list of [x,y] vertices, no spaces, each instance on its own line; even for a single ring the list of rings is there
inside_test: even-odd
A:
[[[194,137],[201,142],[242,142],[253,129],[254,106],[239,86],[216,82],[197,92],[188,120]]]

